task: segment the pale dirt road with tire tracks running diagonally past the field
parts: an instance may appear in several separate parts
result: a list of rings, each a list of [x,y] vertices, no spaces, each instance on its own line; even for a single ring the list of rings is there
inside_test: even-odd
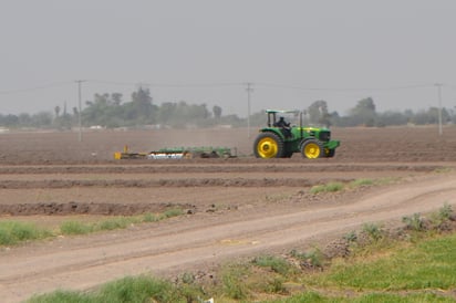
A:
[[[178,230],[173,223],[164,223],[128,232],[128,238],[118,240],[114,236],[103,241],[100,237],[105,236],[90,237],[77,247],[71,245],[72,239],[62,240],[61,249],[44,247],[33,254],[4,255],[0,264],[0,296],[15,302],[55,288],[86,289],[127,274],[160,274],[282,250],[328,234],[341,234],[363,222],[397,220],[437,209],[444,202],[455,205],[455,175],[442,175],[394,186],[388,191],[372,191],[340,206],[322,203],[311,210],[280,215],[265,211],[265,217],[256,213],[221,221],[193,217],[188,222],[182,221]]]

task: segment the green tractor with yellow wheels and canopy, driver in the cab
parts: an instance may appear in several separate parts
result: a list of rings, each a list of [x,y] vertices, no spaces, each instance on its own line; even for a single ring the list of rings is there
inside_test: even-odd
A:
[[[259,130],[253,144],[257,158],[290,158],[293,153],[301,153],[302,157],[309,159],[334,157],[340,142],[331,139],[330,129],[302,126],[300,111],[267,109],[266,113],[268,126]],[[284,121],[283,116],[290,115],[299,119],[299,126],[290,126]]]

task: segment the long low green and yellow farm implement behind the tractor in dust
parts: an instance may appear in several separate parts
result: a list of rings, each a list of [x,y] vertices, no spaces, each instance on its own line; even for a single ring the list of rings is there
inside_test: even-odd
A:
[[[128,146],[123,152],[114,153],[114,159],[194,159],[194,158],[234,158],[230,148],[227,147],[175,147],[160,148],[148,153],[131,153]]]

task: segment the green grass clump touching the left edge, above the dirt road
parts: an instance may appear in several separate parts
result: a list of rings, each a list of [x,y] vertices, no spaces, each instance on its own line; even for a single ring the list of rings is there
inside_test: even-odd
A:
[[[17,221],[0,222],[0,245],[11,245],[28,240],[39,240],[51,236],[51,231],[40,229],[32,223]]]

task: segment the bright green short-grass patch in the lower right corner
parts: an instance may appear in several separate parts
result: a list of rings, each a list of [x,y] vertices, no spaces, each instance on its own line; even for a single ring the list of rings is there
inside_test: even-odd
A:
[[[387,257],[341,262],[321,275],[320,285],[375,291],[456,288],[456,234],[423,241]],[[315,280],[308,281],[314,284]]]

